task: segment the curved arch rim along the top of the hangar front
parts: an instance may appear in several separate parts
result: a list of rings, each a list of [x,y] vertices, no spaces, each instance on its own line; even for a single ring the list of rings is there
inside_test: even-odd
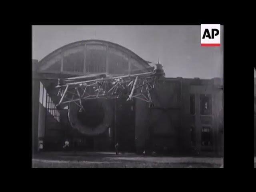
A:
[[[68,52],[69,50],[76,48],[83,48],[90,45],[98,45],[102,47],[104,46],[107,48],[106,50],[111,50],[112,53],[115,52],[115,54],[118,54],[120,57],[127,58],[126,60],[132,61],[136,68],[145,69],[146,71],[150,70],[150,65],[148,64],[148,62],[131,50],[129,50],[128,48],[104,40],[82,40],[64,45],[45,56],[42,60],[38,62],[39,72],[42,72],[49,68],[49,66],[53,65],[54,62],[56,62],[57,60],[60,61],[60,58],[63,57],[64,52]],[[73,52],[76,52],[76,50],[74,50]]]

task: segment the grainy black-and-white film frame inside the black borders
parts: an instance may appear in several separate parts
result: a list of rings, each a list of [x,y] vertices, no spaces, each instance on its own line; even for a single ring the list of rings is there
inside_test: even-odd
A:
[[[32,26],[32,168],[223,168],[223,30]]]

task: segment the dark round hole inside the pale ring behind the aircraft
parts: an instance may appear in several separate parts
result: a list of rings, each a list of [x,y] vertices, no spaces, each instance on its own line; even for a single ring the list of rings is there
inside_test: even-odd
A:
[[[97,127],[104,120],[104,106],[98,100],[84,100],[82,101],[83,109],[77,111],[77,118],[80,123],[88,127]]]

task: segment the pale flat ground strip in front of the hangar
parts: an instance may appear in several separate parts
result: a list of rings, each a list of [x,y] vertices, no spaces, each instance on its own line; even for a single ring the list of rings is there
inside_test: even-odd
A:
[[[43,152],[33,168],[222,168],[222,158],[142,156],[114,152]]]

